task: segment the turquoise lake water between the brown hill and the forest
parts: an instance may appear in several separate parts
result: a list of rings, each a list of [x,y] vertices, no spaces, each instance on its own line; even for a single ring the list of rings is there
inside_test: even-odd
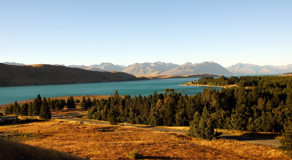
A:
[[[270,74],[269,74],[270,75]],[[275,74],[279,75],[279,74]],[[239,75],[241,76],[241,75]],[[229,76],[228,76],[229,77]],[[176,91],[183,90],[182,94],[195,95],[203,92],[201,86],[185,86],[182,83],[198,80],[199,78],[180,79],[159,79],[130,82],[102,82],[102,83],[81,83],[64,85],[36,85],[36,86],[16,86],[0,87],[0,105],[21,102],[36,98],[37,94],[43,97],[80,96],[80,95],[110,95],[115,90],[120,95],[142,95],[148,96],[154,91],[161,93],[165,88],[173,88]],[[221,90],[219,87],[215,87]]]

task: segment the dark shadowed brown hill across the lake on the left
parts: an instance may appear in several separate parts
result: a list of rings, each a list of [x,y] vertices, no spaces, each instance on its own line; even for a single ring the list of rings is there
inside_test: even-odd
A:
[[[6,65],[0,63],[0,86],[92,83],[110,81],[137,81],[123,72],[99,72],[61,65]]]

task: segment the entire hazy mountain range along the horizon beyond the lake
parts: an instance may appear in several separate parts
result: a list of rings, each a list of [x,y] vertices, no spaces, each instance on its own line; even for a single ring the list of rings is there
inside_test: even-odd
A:
[[[23,63],[4,62],[8,65],[24,65]],[[54,64],[58,65],[58,64]],[[66,66],[62,64],[61,66]],[[99,65],[68,65],[71,68],[81,68],[91,71],[117,71],[125,72],[131,75],[198,75],[198,74],[213,74],[213,75],[246,75],[246,74],[282,74],[292,72],[292,64],[287,66],[273,65],[253,65],[249,63],[237,63],[224,68],[215,62],[191,63],[187,62],[182,65],[174,63],[154,62],[154,63],[134,63],[128,65],[114,65],[112,63],[101,63]]]

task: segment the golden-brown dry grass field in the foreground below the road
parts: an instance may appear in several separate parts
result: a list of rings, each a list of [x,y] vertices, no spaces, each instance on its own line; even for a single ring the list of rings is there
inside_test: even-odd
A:
[[[0,126],[2,131],[40,135],[22,143],[90,159],[289,159],[280,150],[233,140],[207,141],[178,133],[112,125],[78,124],[59,119]]]

